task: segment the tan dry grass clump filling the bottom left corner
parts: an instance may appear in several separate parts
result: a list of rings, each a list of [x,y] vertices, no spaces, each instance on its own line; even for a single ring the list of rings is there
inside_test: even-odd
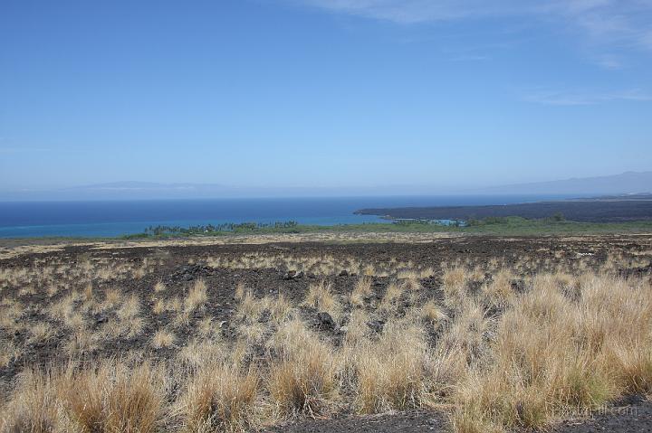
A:
[[[3,432],[155,432],[163,424],[160,372],[116,362],[97,369],[28,371],[2,418]]]

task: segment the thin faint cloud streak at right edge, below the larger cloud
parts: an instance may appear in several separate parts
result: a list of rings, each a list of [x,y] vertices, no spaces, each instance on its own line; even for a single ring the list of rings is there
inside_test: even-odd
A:
[[[652,101],[652,95],[640,89],[616,91],[608,93],[597,92],[564,92],[564,91],[535,91],[523,97],[528,102],[544,105],[580,106],[595,105],[611,101]]]

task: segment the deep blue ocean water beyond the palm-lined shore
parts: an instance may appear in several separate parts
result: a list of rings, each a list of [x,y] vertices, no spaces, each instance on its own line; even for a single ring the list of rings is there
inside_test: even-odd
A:
[[[354,215],[362,208],[508,204],[559,199],[559,196],[423,196],[151,200],[107,202],[0,202],[0,238],[44,236],[113,237],[140,233],[156,225],[224,222],[298,221],[335,225],[378,222]]]

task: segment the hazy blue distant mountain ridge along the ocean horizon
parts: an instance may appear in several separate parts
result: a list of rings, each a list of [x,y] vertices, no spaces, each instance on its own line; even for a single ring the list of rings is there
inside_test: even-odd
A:
[[[122,181],[68,188],[31,191],[2,191],[2,201],[41,200],[149,200],[211,199],[252,197],[344,197],[344,196],[409,196],[409,195],[558,195],[596,197],[633,193],[652,193],[652,171],[627,172],[608,176],[572,178],[529,184],[511,184],[484,188],[450,187],[445,185],[385,184],[378,186],[234,186],[228,184],[160,184]]]

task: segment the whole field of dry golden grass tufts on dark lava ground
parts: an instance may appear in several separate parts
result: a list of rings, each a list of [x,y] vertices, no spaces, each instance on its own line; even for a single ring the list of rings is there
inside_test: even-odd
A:
[[[500,432],[652,392],[652,237],[380,240],[5,246],[0,432]]]

